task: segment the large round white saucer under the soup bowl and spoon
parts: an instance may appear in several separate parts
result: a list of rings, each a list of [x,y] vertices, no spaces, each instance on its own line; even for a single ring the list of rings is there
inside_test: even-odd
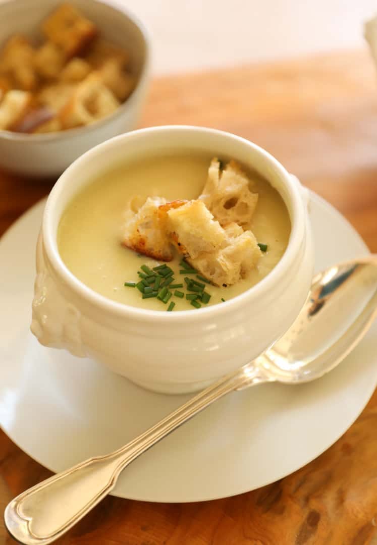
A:
[[[142,390],[90,360],[39,346],[29,333],[34,248],[44,203],[0,241],[0,425],[60,471],[123,445],[188,396]],[[339,213],[312,196],[317,270],[368,253]],[[361,413],[376,384],[377,323],[326,377],[266,384],[221,399],[127,468],[114,495],[200,501],[240,494],[317,457]]]

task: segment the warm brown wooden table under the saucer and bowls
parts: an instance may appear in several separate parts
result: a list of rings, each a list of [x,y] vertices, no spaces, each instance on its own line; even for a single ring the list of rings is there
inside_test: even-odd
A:
[[[377,85],[366,52],[153,82],[142,126],[197,124],[269,150],[335,205],[377,252]],[[52,181],[0,175],[0,233]],[[0,510],[49,472],[0,432]],[[293,475],[223,500],[108,497],[64,545],[364,545],[377,525],[377,392],[335,445]],[[0,518],[0,545],[5,537]]]

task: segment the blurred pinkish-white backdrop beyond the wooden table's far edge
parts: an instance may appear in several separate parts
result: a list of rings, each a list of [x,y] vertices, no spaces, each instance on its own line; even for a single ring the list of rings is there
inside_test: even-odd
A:
[[[120,0],[150,29],[154,74],[366,47],[375,0]]]

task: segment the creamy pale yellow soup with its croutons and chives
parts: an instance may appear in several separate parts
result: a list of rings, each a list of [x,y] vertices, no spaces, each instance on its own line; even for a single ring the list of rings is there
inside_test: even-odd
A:
[[[279,193],[236,161],[171,155],[84,187],[58,228],[63,262],[114,301],[160,311],[222,304],[254,286],[289,239]]]

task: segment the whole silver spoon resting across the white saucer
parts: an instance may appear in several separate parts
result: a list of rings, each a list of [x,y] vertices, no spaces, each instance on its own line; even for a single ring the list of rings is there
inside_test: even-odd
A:
[[[27,545],[53,542],[111,492],[128,464],[200,410],[228,392],[254,384],[301,384],[323,376],[360,342],[376,314],[377,255],[320,272],[299,316],[272,348],[121,449],[90,458],[17,496],[5,508],[9,532]]]

